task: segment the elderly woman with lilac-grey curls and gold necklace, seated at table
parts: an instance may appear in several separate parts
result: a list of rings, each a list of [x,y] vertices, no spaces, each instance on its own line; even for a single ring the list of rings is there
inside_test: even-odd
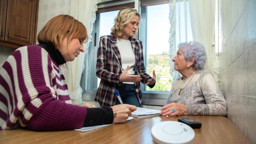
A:
[[[204,69],[205,47],[199,42],[178,45],[174,69],[182,77],[171,88],[160,115],[227,115],[227,103],[211,72]]]

